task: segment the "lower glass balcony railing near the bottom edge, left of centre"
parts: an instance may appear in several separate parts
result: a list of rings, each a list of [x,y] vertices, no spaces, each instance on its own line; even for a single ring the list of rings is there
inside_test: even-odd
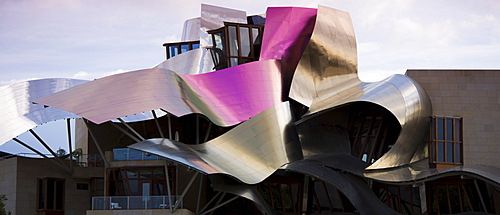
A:
[[[92,210],[135,210],[135,209],[170,209],[180,196],[103,196],[92,197]],[[182,201],[177,207],[183,208]]]

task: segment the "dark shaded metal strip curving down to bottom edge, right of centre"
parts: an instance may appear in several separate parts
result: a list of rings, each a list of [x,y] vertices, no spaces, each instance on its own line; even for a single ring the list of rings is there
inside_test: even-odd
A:
[[[330,168],[322,160],[306,158],[287,164],[282,169],[311,175],[335,186],[360,214],[399,214],[380,201],[362,178]]]

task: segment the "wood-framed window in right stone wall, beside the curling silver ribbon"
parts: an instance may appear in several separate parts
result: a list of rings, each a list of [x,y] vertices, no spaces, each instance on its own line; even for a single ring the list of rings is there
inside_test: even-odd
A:
[[[433,117],[430,140],[431,163],[462,164],[461,117]]]

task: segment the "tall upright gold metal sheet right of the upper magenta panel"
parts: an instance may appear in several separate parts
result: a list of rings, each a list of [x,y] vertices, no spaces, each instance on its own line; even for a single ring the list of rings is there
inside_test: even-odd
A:
[[[318,7],[311,39],[292,81],[290,98],[311,106],[359,83],[356,39],[349,14]]]

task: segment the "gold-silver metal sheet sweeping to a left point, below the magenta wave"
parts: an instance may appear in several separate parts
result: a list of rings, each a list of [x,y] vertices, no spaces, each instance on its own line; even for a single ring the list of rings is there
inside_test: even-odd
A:
[[[289,103],[281,103],[199,145],[150,139],[129,148],[166,157],[205,174],[223,173],[258,183],[302,158]]]

